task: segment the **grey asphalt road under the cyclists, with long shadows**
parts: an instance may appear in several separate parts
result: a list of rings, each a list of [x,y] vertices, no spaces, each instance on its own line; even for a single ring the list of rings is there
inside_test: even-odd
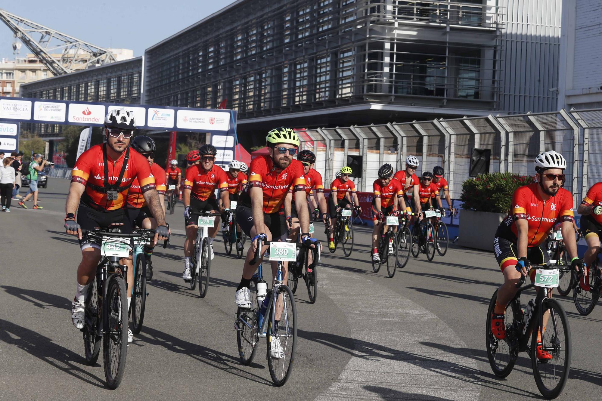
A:
[[[273,387],[263,341],[252,365],[238,362],[233,323],[241,261],[225,256],[216,240],[206,298],[182,281],[181,204],[167,217],[176,231],[172,246],[158,246],[153,256],[143,331],[128,347],[122,384],[111,392],[102,355],[99,364],[85,363],[81,332],[70,319],[79,250],[63,231],[67,188],[68,181],[51,178],[40,191],[44,210],[27,202],[28,210],[13,205],[11,214],[0,214],[1,399],[541,398],[526,354],[506,379],[491,373],[485,315],[502,279],[491,253],[452,248],[432,263],[411,258],[389,279],[383,269],[372,272],[365,228],[356,230],[349,258],[341,250],[323,253],[314,305],[300,283],[293,376]],[[602,307],[582,317],[572,298],[562,305],[573,363],[560,399],[599,399]]]

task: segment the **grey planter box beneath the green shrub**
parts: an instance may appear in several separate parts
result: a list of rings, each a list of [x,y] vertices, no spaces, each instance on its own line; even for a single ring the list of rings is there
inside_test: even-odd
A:
[[[458,244],[469,248],[493,250],[495,231],[506,213],[462,210]]]

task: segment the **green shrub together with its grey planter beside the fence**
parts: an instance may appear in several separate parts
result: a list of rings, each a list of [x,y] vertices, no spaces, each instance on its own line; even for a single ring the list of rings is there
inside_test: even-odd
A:
[[[532,176],[492,173],[462,182],[460,199],[464,206],[458,243],[461,246],[493,250],[495,231],[510,210],[512,194],[534,182]]]

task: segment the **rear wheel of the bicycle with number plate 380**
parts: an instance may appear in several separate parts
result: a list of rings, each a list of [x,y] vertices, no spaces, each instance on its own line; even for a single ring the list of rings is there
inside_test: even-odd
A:
[[[259,322],[257,321],[259,305],[257,303],[257,284],[255,279],[251,280],[249,290],[251,291],[253,308],[238,308],[237,311],[236,338],[238,342],[238,358],[240,358],[240,363],[243,365],[249,365],[253,361],[259,342]],[[248,323],[250,327],[241,322],[241,319]]]

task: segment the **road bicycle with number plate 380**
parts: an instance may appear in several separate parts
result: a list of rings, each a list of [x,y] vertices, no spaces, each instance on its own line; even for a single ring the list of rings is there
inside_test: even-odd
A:
[[[296,260],[297,243],[272,241],[270,261],[278,260],[278,271],[272,290],[267,290],[263,280],[262,264],[250,283],[251,308],[238,308],[234,316],[234,328],[237,334],[238,355],[244,365],[253,361],[259,338],[267,340],[267,362],[272,382],[280,387],[290,378],[297,346],[297,309],[293,292],[284,284],[283,263]],[[254,266],[261,253],[264,241],[259,238]],[[274,345],[272,345],[274,344]]]

